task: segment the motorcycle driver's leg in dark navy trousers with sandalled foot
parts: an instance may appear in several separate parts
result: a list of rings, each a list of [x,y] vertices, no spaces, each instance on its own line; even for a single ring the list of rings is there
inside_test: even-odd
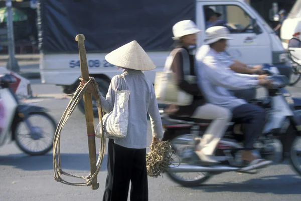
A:
[[[233,111],[233,119],[237,123],[243,123],[243,133],[245,135],[244,151],[241,159],[250,162],[254,166],[270,163],[270,161],[258,160],[258,157],[252,153],[254,149],[254,140],[261,135],[263,126],[265,124],[265,110],[253,104],[244,104],[236,107]],[[253,161],[253,163],[252,163]],[[260,164],[259,164],[260,163]]]

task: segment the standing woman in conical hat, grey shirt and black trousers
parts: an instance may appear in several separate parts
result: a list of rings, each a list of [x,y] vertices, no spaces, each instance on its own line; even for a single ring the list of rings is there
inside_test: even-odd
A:
[[[148,200],[145,160],[147,113],[152,125],[154,143],[163,138],[163,128],[155,89],[142,71],[154,70],[156,66],[136,41],[112,51],[105,59],[124,69],[121,75],[130,95],[127,135],[125,138],[109,139],[108,175],[103,200],[127,200],[130,181],[131,200]],[[112,78],[106,97],[101,97],[101,105],[107,113],[114,107],[116,79],[118,76]],[[83,80],[81,85],[84,85]],[[87,91],[93,94],[93,86],[89,85]]]

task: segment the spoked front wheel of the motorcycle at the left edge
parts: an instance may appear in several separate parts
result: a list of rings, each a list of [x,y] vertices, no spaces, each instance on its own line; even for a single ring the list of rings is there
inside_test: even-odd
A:
[[[45,112],[30,113],[27,120],[30,121],[34,132],[32,133],[30,131],[24,121],[18,122],[14,129],[18,147],[32,156],[46,154],[53,146],[54,134],[57,128],[55,120]],[[45,129],[45,127],[47,127],[47,129]],[[26,143],[26,141],[29,141],[29,143]]]

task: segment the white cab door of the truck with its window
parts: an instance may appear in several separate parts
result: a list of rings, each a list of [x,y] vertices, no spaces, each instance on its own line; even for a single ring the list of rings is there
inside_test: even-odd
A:
[[[270,63],[272,61],[269,34],[256,22],[256,13],[250,12],[248,5],[241,2],[199,2],[197,4],[197,22],[201,30],[206,30],[207,8],[221,14],[218,20],[229,31],[232,40],[228,41],[227,52],[233,59],[248,65]],[[208,19],[207,19],[208,20]],[[205,31],[201,33],[201,45],[205,38]]]

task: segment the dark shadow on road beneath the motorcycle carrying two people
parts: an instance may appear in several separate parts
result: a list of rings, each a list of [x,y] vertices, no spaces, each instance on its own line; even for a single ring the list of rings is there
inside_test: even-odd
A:
[[[301,194],[301,178],[298,175],[284,174],[263,176],[240,183],[224,182],[220,184],[203,184],[191,189],[205,192],[256,192],[273,194]]]

